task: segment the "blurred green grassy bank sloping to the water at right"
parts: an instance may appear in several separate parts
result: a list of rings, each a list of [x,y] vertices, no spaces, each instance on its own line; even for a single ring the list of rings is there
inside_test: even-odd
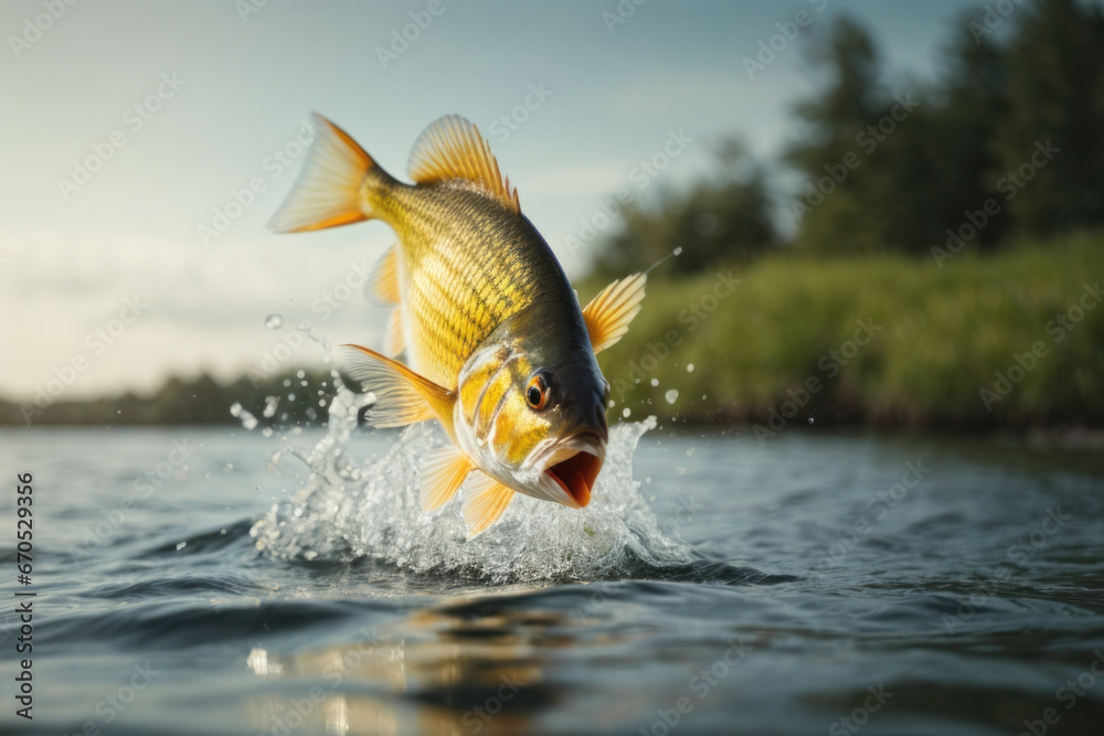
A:
[[[775,425],[1104,424],[1102,234],[967,248],[942,268],[779,255],[731,277],[742,282],[652,276],[601,356],[618,407]]]

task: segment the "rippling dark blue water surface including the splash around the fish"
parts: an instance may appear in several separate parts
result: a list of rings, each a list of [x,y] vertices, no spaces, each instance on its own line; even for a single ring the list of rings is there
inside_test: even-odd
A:
[[[468,543],[414,503],[436,441],[3,430],[39,596],[33,728],[6,607],[0,730],[1102,733],[1098,455],[626,422],[588,509]]]

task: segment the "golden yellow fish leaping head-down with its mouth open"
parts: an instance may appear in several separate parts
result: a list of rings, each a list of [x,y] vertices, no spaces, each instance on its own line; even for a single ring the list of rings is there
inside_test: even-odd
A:
[[[365,289],[391,309],[381,351],[343,348],[348,374],[375,396],[368,424],[437,420],[448,436],[420,467],[423,509],[463,488],[474,538],[516,493],[586,506],[609,439],[609,383],[596,355],[640,311],[646,273],[615,280],[581,308],[490,143],[461,116],[442,117],[417,138],[413,184],[321,115],[314,126],[269,226],[298,233],[381,220],[397,235]]]

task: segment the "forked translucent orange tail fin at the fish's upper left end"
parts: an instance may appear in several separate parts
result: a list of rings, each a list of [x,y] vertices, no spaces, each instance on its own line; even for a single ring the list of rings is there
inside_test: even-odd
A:
[[[368,220],[360,190],[375,162],[349,134],[321,115],[311,116],[315,142],[299,178],[268,226],[278,233],[337,227]]]

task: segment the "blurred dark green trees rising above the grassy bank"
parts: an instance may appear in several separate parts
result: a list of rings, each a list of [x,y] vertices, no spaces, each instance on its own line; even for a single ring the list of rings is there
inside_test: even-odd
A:
[[[940,262],[1104,223],[1100,4],[1005,0],[966,12],[923,82],[888,78],[852,18],[805,51],[821,84],[794,107],[800,135],[781,161],[800,184],[775,191],[763,164],[725,141],[713,175],[625,209],[596,277],[645,268],[677,246],[681,274],[779,247]]]

